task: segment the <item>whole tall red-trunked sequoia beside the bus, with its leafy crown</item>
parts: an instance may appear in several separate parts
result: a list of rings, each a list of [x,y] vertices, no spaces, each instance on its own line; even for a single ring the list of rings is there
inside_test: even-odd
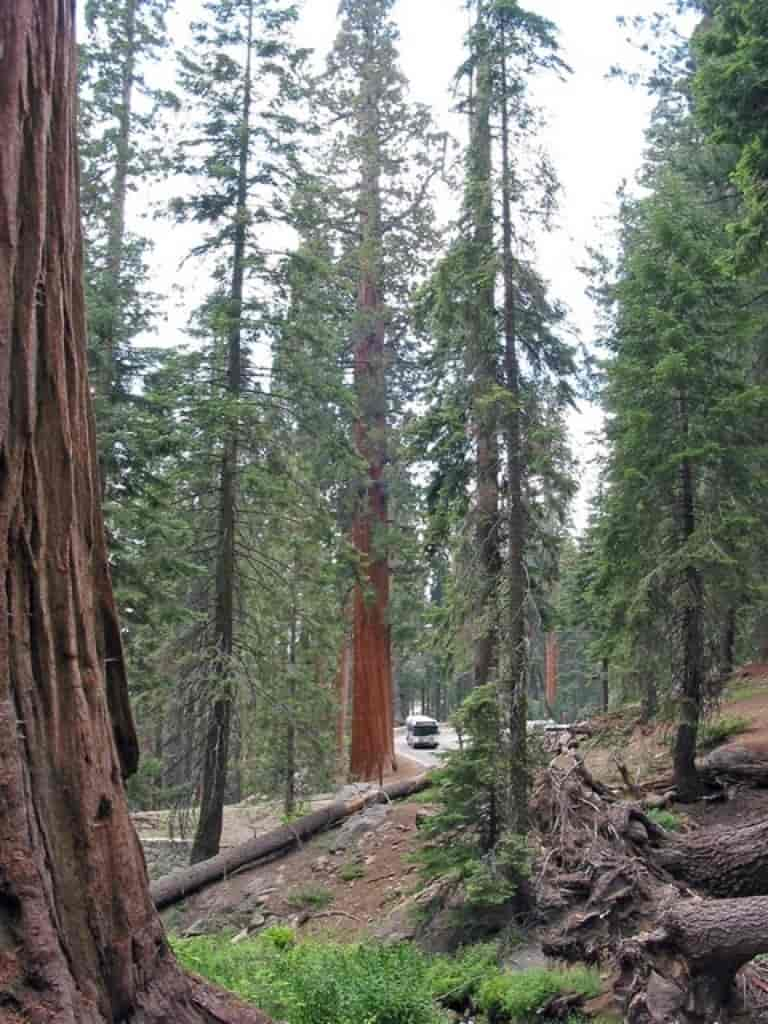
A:
[[[356,289],[349,325],[360,465],[351,528],[358,573],[350,771],[361,778],[381,775],[393,757],[388,435],[397,344],[432,242],[429,182],[440,156],[428,111],[403,97],[392,6],[393,0],[342,0],[341,30],[318,89],[333,131],[329,236],[339,239]]]

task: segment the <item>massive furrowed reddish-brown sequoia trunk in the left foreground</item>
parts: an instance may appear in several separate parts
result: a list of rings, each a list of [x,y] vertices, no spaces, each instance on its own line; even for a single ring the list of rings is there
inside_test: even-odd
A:
[[[136,767],[86,370],[74,0],[0,4],[0,1018],[256,1024],[176,965]]]

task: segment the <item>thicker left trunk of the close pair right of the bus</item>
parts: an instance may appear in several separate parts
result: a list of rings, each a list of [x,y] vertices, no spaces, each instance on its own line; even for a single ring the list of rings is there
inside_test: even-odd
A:
[[[475,26],[477,72],[472,112],[468,208],[475,266],[469,324],[472,371],[472,422],[477,460],[474,685],[489,682],[498,666],[499,551],[498,414],[489,396],[498,384],[496,300],[494,295],[494,207],[490,137],[492,72],[485,4],[478,0]]]

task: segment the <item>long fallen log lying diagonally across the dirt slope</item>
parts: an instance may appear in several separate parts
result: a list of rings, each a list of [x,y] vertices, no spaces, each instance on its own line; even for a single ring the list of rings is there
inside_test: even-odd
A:
[[[309,839],[316,833],[331,827],[338,821],[356,814],[371,804],[386,803],[390,800],[400,800],[419,793],[429,785],[429,773],[401,782],[391,782],[371,793],[349,801],[336,801],[327,807],[297,818],[290,825],[283,825],[264,836],[254,836],[240,846],[224,850],[216,857],[201,860],[197,864],[165,874],[153,882],[150,893],[159,910],[171,906],[184,899],[190,893],[203,889],[204,886],[217,882],[231,874],[240,867],[272,857],[276,853],[287,853],[295,846]]]

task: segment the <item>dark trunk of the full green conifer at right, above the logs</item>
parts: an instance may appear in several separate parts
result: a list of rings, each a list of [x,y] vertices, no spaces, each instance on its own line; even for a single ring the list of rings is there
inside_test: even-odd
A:
[[[680,396],[681,440],[688,440],[688,404]],[[696,527],[693,497],[693,467],[684,456],[680,463],[680,492],[677,502],[678,536],[687,544]],[[696,772],[696,736],[701,703],[701,616],[703,588],[694,565],[683,570],[675,609],[675,666],[673,685],[680,701],[675,740],[675,785],[680,800],[694,800],[700,791]]]

